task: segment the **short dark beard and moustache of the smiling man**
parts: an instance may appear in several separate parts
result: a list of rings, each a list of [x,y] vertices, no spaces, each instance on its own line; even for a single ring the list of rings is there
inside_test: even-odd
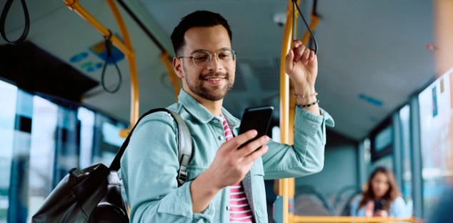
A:
[[[187,71],[185,68],[184,72]],[[210,89],[204,86],[204,81],[207,78],[224,78],[224,81],[227,81],[227,84],[224,86],[211,86]],[[221,72],[209,72],[208,74],[201,74],[199,78],[188,79],[186,76],[186,84],[189,86],[189,89],[196,95],[200,96],[202,99],[209,101],[219,101],[224,99],[225,96],[232,90],[234,86],[234,79],[229,75],[229,73]]]

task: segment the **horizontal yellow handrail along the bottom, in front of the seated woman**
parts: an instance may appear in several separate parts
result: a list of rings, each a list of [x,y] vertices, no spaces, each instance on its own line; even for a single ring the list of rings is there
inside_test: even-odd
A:
[[[349,222],[423,222],[422,219],[396,218],[396,217],[321,217],[321,216],[294,216],[293,222],[311,222],[311,223],[349,223]]]

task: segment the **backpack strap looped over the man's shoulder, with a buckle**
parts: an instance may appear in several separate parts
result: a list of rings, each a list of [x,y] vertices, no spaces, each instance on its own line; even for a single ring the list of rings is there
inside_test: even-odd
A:
[[[179,116],[178,113],[170,110],[170,109],[151,109],[149,112],[146,112],[144,115],[142,115],[137,122],[137,124],[140,122],[141,119],[146,117],[149,114],[152,114],[154,112],[168,112],[171,114],[171,117],[176,121],[176,124],[178,126],[178,161],[179,161],[179,170],[178,170],[178,176],[176,177],[178,181],[178,187],[180,187],[184,182],[186,182],[187,179],[187,166],[189,165],[190,159],[192,157],[192,138],[191,134],[189,131],[189,128],[186,125],[186,122],[184,122],[184,119]],[[116,153],[116,156],[111,162],[111,165],[109,169],[111,171],[118,171],[120,168],[120,161],[121,157],[124,154],[124,151],[127,148],[127,145],[129,144],[129,140],[131,139],[132,132],[134,132],[135,127],[137,126],[135,124],[134,128],[131,130],[129,135],[127,136],[126,140],[124,140],[124,143],[121,145],[121,148],[119,149],[118,153]]]

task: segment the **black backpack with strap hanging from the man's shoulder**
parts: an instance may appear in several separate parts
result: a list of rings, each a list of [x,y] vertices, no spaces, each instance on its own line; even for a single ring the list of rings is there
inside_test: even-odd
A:
[[[169,112],[178,125],[177,181],[181,186],[186,181],[187,165],[192,154],[189,129],[179,114],[169,109],[152,109],[141,116],[139,122],[153,112]],[[71,169],[49,194],[31,222],[129,222],[117,171],[134,129],[121,145],[110,167],[94,164],[81,170]]]

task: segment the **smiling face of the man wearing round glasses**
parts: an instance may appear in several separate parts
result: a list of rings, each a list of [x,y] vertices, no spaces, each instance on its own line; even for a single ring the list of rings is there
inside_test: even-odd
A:
[[[184,90],[210,101],[223,99],[233,88],[236,71],[236,59],[227,58],[232,49],[227,29],[221,25],[194,27],[186,31],[184,40],[184,54],[177,56],[196,56],[196,64],[187,58],[176,62],[176,73],[183,79]],[[204,52],[212,54],[211,63],[209,54]],[[206,60],[206,56],[208,61],[200,62]]]

